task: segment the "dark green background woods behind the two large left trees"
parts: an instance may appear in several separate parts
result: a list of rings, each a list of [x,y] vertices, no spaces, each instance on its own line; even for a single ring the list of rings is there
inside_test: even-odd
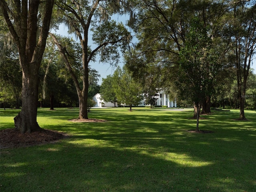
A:
[[[77,43],[71,38],[70,43]],[[6,50],[6,57],[0,66],[0,107],[21,108],[22,70],[18,52],[13,44]],[[79,60],[77,68],[80,67]],[[79,72],[79,71],[77,71]],[[94,69],[89,70],[88,98],[100,91],[100,75]],[[81,83],[81,82],[80,82]],[[47,46],[39,70],[38,107],[78,107],[78,96],[74,82],[63,64],[59,52],[48,38]]]

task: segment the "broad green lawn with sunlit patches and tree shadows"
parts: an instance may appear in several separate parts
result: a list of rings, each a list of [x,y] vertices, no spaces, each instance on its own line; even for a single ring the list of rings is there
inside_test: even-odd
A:
[[[0,129],[17,110],[0,110]],[[1,149],[1,192],[256,192],[256,112],[216,111],[195,129],[193,112],[38,109],[38,124],[71,135],[54,144]]]

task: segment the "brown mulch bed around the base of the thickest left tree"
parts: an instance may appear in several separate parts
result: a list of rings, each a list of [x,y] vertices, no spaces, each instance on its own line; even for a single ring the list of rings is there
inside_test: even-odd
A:
[[[22,134],[14,129],[0,130],[0,148],[16,148],[56,142],[68,138],[68,134],[43,129],[40,132]]]

